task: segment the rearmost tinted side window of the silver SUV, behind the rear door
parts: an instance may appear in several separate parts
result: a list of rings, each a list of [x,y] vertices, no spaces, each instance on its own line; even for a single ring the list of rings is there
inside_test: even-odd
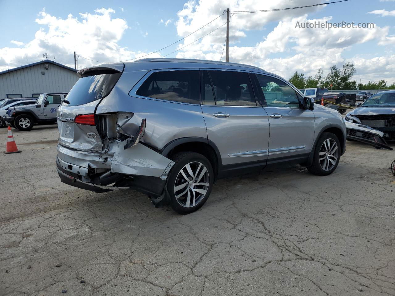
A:
[[[163,71],[152,73],[136,94],[143,97],[199,104],[199,71]]]

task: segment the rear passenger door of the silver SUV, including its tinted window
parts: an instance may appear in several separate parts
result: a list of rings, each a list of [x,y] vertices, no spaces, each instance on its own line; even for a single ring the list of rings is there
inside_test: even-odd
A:
[[[201,108],[207,136],[218,147],[222,164],[235,169],[247,162],[264,165],[269,120],[255,97],[250,74],[201,69],[201,76]]]

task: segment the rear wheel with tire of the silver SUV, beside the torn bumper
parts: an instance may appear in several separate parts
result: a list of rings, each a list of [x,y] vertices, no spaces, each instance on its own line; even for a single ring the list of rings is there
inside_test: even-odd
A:
[[[179,152],[172,159],[175,165],[167,181],[171,208],[179,214],[195,212],[210,196],[213,167],[206,157],[195,152]]]

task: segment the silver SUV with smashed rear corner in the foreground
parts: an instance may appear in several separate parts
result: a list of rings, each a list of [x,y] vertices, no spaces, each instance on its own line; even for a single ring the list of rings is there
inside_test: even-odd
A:
[[[181,214],[214,180],[293,162],[331,174],[345,151],[339,112],[254,66],[150,58],[80,70],[58,109],[62,182],[134,188]]]

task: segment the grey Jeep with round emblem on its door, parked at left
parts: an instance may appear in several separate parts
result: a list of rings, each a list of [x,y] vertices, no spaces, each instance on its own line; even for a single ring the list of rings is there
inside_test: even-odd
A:
[[[30,131],[38,123],[56,123],[56,112],[66,95],[67,93],[41,94],[36,105],[9,109],[4,121],[21,131]]]

